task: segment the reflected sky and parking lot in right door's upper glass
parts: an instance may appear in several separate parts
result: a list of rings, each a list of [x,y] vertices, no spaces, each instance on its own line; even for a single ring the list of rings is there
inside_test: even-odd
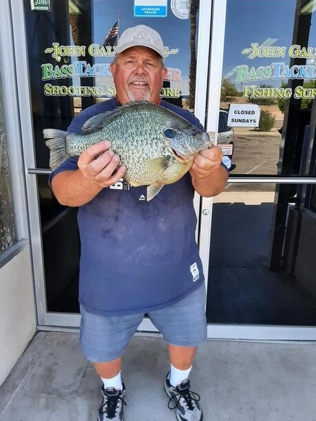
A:
[[[316,46],[314,3],[304,4],[304,15],[295,16],[297,0],[258,0],[251,8],[246,0],[227,1],[220,107],[260,107],[258,127],[249,120],[242,127],[231,125],[232,175],[302,173],[304,136],[315,98],[311,51]],[[218,143],[229,155],[224,140]]]

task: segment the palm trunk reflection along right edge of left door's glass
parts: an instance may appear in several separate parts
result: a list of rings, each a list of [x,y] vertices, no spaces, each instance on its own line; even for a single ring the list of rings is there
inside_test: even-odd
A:
[[[190,20],[191,20],[191,34],[190,34],[190,50],[191,61],[189,71],[189,108],[194,108],[196,99],[196,14],[199,8],[199,0],[191,0]]]

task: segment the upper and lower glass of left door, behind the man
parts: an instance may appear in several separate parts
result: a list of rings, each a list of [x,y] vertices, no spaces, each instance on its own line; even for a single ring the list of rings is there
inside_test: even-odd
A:
[[[118,35],[129,27],[160,32],[168,70],[160,97],[193,111],[199,1],[140,3],[62,0],[51,1],[48,11],[32,10],[24,0],[36,169],[49,169],[43,129],[66,130],[82,110],[115,96],[110,63]],[[36,180],[48,312],[78,312],[76,209],[56,202],[47,175]]]

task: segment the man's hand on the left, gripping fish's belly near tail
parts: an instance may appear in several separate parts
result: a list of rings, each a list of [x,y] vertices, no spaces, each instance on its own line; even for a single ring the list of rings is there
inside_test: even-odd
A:
[[[78,158],[78,169],[83,176],[100,188],[117,183],[126,171],[124,165],[118,166],[120,157],[109,150],[110,147],[111,142],[108,140],[98,142],[87,147]]]

